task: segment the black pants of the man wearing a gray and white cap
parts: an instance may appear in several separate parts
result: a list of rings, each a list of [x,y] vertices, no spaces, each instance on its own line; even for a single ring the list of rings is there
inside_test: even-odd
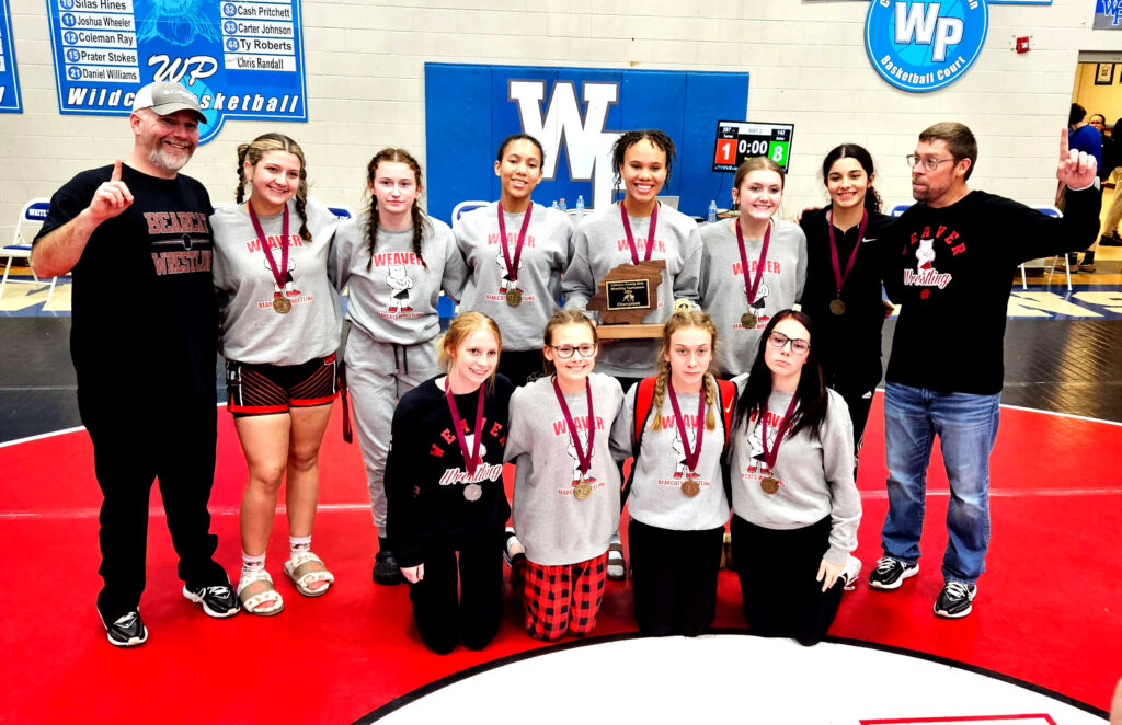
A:
[[[218,411],[214,393],[188,398],[125,401],[79,389],[79,413],[93,441],[101,503],[98,611],[107,623],[136,609],[145,588],[151,485],[167,512],[178,575],[192,588],[227,585],[210,533]],[[151,407],[149,407],[151,406]]]

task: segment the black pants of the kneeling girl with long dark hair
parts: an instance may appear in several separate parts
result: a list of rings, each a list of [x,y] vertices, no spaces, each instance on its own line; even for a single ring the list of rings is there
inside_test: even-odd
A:
[[[760,636],[817,644],[842,604],[842,577],[825,593],[815,579],[829,549],[830,517],[802,529],[764,529],[733,516],[733,560],[741,579],[744,617]]]

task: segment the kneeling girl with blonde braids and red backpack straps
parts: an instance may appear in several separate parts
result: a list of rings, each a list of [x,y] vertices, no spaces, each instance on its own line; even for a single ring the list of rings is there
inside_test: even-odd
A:
[[[629,496],[632,584],[640,632],[697,636],[712,622],[728,521],[721,460],[733,385],[711,369],[717,327],[675,312],[662,328],[657,375],[624,398],[634,455]]]

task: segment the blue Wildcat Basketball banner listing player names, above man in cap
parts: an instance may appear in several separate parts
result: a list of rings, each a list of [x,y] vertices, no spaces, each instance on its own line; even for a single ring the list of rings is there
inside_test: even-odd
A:
[[[206,143],[227,118],[306,121],[301,0],[47,0],[61,113],[128,114],[140,86],[178,81]]]

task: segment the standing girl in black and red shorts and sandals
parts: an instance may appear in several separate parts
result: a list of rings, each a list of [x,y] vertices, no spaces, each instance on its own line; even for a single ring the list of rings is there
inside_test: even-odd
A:
[[[265,551],[283,483],[285,575],[309,597],[327,594],[334,581],[311,543],[320,443],[339,395],[342,310],[331,265],[338,220],[307,196],[304,152],[280,134],[238,147],[234,198],[237,205],[215,209],[211,227],[228,410],[249,468],[238,596],[248,613],[273,615],[284,599],[265,568]]]

